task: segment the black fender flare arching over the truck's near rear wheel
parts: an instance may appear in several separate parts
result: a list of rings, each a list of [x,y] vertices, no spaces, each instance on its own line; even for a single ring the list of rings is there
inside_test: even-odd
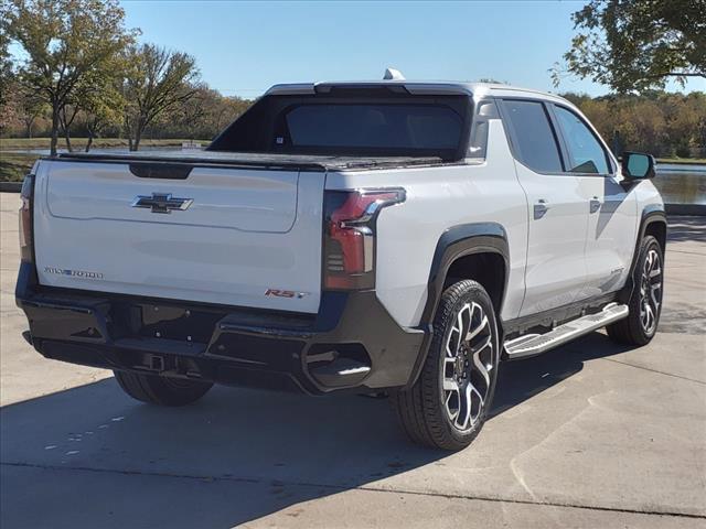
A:
[[[443,283],[449,268],[457,259],[474,253],[496,253],[500,255],[505,262],[503,294],[500,306],[495,307],[499,316],[498,324],[499,326],[501,325],[500,312],[507,292],[507,278],[510,276],[510,245],[507,244],[507,233],[505,228],[498,223],[471,223],[448,228],[439,237],[434,251],[427,283],[427,301],[418,326],[418,328],[424,331],[425,339],[417,355],[407,387],[416,382],[421,371],[421,366],[427,359],[431,335],[434,334],[434,319],[437,306],[439,305],[439,300],[443,293]]]

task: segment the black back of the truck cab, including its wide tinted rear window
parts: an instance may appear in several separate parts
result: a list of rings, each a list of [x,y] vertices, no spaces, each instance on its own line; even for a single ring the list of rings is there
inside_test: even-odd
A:
[[[467,154],[473,107],[468,96],[335,91],[265,96],[208,150],[445,161]]]

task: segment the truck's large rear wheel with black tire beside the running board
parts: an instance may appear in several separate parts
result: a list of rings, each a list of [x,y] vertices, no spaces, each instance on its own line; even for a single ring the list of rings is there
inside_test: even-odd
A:
[[[486,317],[486,322],[483,317]],[[466,320],[469,322],[468,332],[462,331],[462,323],[459,324]],[[457,327],[461,331],[457,331]],[[453,345],[457,338],[463,334],[470,336],[475,328],[480,331],[471,339],[458,339],[459,345]],[[447,353],[447,343],[450,344],[449,350],[456,349],[456,355]],[[498,380],[499,347],[495,312],[483,287],[470,280],[449,287],[437,307],[434,336],[419,378],[408,390],[391,393],[391,403],[411,441],[456,451],[464,449],[475,439],[492,406]],[[481,369],[479,364],[485,369]],[[456,385],[457,389],[445,389],[449,384]],[[473,391],[467,391],[469,385],[477,389],[477,396]],[[481,396],[481,391],[484,396]],[[463,398],[462,393],[470,393],[470,400]],[[473,398],[477,402],[475,412]],[[458,400],[456,419],[452,417],[454,400]],[[463,428],[459,428],[461,419],[467,424]]]

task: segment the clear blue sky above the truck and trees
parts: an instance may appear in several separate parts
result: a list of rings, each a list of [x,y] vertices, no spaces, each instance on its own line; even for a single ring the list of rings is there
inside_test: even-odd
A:
[[[387,66],[408,79],[555,90],[548,69],[569,47],[570,14],[585,3],[122,1],[142,41],[194,55],[203,80],[246,98],[276,83],[381,78]],[[706,90],[706,82],[686,89]],[[558,88],[568,90],[608,91],[577,79]]]

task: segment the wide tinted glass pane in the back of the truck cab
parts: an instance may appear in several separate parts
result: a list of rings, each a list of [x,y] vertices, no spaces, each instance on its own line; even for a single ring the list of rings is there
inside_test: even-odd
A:
[[[286,123],[295,148],[457,149],[463,120],[445,106],[302,105]]]

